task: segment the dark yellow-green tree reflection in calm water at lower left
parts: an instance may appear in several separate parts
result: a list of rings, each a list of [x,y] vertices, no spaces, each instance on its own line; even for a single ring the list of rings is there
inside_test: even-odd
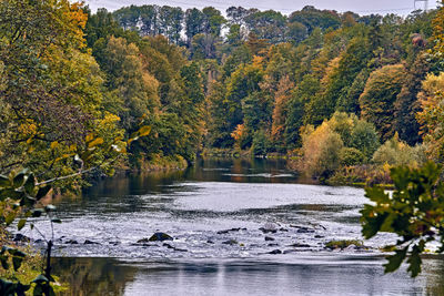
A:
[[[70,285],[61,295],[101,296],[123,295],[138,268],[111,258],[54,258],[53,272]]]

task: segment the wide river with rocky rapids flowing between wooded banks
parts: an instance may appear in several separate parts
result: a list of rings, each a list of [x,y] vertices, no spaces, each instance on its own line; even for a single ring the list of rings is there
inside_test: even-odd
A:
[[[391,235],[325,248],[362,239],[365,202],[361,188],[301,184],[280,160],[118,175],[56,201],[53,272],[70,283],[65,295],[444,295],[441,257],[415,279],[405,267],[383,275],[379,247]],[[51,236],[47,222],[36,225]],[[155,232],[174,241],[143,241]]]

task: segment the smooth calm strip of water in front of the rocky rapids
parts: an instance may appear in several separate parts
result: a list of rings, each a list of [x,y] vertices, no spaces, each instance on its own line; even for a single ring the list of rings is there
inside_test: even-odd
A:
[[[383,275],[382,259],[276,262],[125,262],[61,258],[56,269],[72,289],[62,295],[444,295],[443,265],[426,259],[412,279],[405,268]]]

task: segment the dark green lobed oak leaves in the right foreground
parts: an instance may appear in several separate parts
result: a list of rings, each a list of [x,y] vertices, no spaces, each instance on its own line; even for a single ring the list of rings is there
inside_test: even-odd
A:
[[[380,232],[396,234],[395,254],[389,255],[385,272],[396,271],[406,259],[413,277],[421,273],[421,254],[425,245],[438,241],[444,251],[444,183],[438,182],[441,166],[433,162],[422,167],[398,166],[391,170],[395,190],[392,194],[381,187],[366,188],[372,201],[361,211],[362,233],[371,238]],[[407,257],[408,255],[408,257]]]

